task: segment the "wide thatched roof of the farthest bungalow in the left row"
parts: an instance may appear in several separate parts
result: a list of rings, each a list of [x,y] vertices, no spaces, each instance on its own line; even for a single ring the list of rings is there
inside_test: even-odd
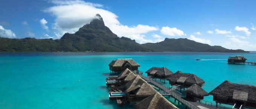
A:
[[[140,67],[140,65],[135,62],[133,59],[116,59],[111,61],[110,64],[108,64],[108,66],[111,67],[123,67],[125,64],[129,63],[131,66],[133,67]]]

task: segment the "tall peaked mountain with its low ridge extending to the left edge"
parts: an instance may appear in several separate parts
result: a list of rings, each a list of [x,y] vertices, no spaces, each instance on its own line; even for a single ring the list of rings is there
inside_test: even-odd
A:
[[[93,19],[75,34],[65,33],[61,39],[10,39],[0,37],[0,52],[56,52],[56,51],[154,51],[131,40],[119,38],[105,26],[102,17]]]

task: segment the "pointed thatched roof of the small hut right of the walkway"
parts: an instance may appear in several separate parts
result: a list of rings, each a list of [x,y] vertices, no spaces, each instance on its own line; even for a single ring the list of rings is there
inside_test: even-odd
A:
[[[189,88],[187,88],[183,92],[193,94],[197,97],[204,97],[204,96],[209,95],[206,91],[204,91],[204,89],[202,89],[197,84],[194,84],[194,85],[190,86]]]

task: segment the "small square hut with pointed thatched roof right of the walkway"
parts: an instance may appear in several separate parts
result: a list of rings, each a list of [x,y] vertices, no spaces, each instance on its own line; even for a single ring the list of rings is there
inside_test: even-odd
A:
[[[189,99],[194,100],[194,101],[197,100],[196,98],[202,100],[202,99],[204,99],[204,96],[209,95],[206,91],[204,91],[204,89],[202,89],[197,84],[194,84],[194,85],[190,86],[189,88],[187,88],[183,92],[186,93],[186,98],[189,98]]]

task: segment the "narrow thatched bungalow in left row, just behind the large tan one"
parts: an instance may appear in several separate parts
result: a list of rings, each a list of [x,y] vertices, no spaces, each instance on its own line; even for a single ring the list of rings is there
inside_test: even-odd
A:
[[[136,77],[136,75],[134,73],[128,72],[128,74],[118,77],[117,80],[119,81],[119,85],[125,85],[126,83],[128,83],[129,81],[134,79],[135,77]]]

